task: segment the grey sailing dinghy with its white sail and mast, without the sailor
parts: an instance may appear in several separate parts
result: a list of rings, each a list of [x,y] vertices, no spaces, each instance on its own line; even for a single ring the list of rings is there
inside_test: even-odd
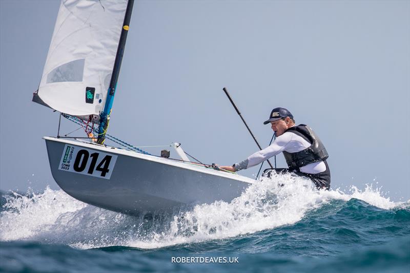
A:
[[[44,137],[54,180],[75,199],[127,214],[231,201],[254,180],[190,162],[179,144],[181,159],[113,137],[125,147],[105,144],[132,8],[133,0],[61,1],[33,101],[83,124],[91,137]]]

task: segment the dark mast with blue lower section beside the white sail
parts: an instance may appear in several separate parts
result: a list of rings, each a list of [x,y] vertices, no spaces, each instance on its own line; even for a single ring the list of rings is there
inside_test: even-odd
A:
[[[103,112],[100,113],[100,123],[98,128],[98,144],[103,144],[107,133],[108,123],[110,122],[110,115],[112,111],[112,104],[114,101],[115,90],[117,88],[119,70],[121,68],[122,55],[124,55],[125,43],[127,40],[128,29],[130,26],[132,7],[134,0],[128,0],[127,10],[125,12],[124,24],[122,24],[121,35],[119,37],[117,54],[115,56],[114,68],[111,75],[110,87],[107,92],[107,99]]]

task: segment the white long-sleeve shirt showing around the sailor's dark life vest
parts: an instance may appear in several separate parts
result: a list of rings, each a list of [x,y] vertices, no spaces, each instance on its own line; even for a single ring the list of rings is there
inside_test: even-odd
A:
[[[256,166],[262,161],[267,160],[277,154],[285,151],[289,153],[296,153],[309,148],[311,143],[306,141],[303,137],[291,132],[285,132],[278,136],[275,141],[267,148],[250,155],[247,159],[237,164],[237,170],[248,169]],[[326,165],[323,161],[310,163],[300,167],[300,172],[307,174],[318,174],[326,171]]]

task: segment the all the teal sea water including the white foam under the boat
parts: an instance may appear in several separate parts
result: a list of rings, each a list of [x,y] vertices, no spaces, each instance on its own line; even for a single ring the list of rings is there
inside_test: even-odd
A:
[[[3,194],[0,271],[410,272],[410,201],[274,175],[231,202],[129,216]]]

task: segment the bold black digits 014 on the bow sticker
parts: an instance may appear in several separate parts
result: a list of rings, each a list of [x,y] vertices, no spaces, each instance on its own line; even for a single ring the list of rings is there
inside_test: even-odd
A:
[[[110,171],[108,167],[110,166],[112,156],[106,155],[97,165],[98,156],[98,153],[92,153],[90,155],[87,150],[79,150],[73,164],[74,171],[78,173],[83,172],[86,169],[88,159],[91,158],[90,167],[88,168],[87,173],[92,175],[95,168],[95,171],[101,172],[100,176],[105,177]],[[95,165],[97,165],[97,167],[95,167]]]

